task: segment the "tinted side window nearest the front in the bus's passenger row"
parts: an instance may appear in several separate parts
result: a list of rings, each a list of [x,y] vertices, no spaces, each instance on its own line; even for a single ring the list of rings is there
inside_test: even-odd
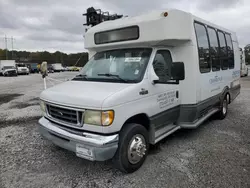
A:
[[[204,25],[195,23],[195,31],[198,44],[200,72],[201,73],[210,72],[211,65],[209,58],[207,30]]]

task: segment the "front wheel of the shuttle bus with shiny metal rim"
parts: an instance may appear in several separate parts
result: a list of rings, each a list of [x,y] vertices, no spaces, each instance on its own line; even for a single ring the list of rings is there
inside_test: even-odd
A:
[[[125,173],[138,170],[144,163],[149,149],[148,131],[139,124],[125,124],[119,136],[119,144],[113,162]]]

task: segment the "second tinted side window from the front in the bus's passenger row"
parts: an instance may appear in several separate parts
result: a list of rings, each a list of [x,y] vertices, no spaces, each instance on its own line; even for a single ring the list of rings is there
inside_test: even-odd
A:
[[[212,70],[219,71],[220,70],[220,59],[219,55],[219,44],[216,31],[212,28],[208,28],[208,35],[210,41],[210,55],[212,59]]]

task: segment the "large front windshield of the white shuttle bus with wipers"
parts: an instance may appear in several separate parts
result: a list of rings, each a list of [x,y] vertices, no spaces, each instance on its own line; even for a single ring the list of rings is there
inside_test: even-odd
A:
[[[143,78],[152,49],[117,49],[96,53],[74,80],[137,83]]]

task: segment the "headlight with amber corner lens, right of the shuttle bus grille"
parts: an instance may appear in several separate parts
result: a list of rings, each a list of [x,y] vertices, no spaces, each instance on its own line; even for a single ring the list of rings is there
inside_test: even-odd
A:
[[[94,111],[86,110],[84,113],[84,123],[99,126],[109,126],[113,123],[114,111]]]

